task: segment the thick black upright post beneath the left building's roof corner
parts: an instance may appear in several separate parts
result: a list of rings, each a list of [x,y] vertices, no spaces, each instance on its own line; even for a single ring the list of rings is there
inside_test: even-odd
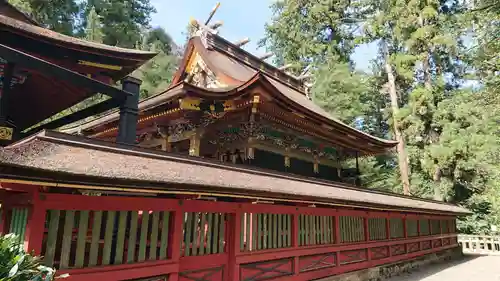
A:
[[[141,83],[141,80],[131,76],[127,76],[122,80],[123,91],[132,95],[127,95],[120,105],[117,137],[117,142],[119,143],[135,144]]]

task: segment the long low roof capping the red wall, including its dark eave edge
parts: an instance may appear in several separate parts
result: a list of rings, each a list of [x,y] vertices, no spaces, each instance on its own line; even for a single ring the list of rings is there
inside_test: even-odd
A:
[[[469,213],[462,207],[438,201],[45,131],[0,149],[0,167],[0,180],[50,181],[61,186],[148,186],[163,192],[409,212]]]

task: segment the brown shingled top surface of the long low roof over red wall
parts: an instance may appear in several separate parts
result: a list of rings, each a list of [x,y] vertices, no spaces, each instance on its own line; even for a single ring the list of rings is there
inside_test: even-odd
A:
[[[237,192],[289,194],[363,206],[375,204],[465,214],[464,208],[343,184],[277,175],[172,156],[54,132],[42,132],[0,151],[0,163],[107,179],[202,185]]]

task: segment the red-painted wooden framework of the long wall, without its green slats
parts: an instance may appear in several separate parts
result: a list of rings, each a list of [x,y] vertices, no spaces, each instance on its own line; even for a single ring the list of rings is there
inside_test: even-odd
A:
[[[169,211],[168,255],[165,260],[118,265],[64,269],[58,273],[69,273],[68,281],[80,280],[140,280],[158,276],[157,280],[169,281],[237,281],[237,280],[311,280],[348,271],[369,268],[386,263],[408,260],[417,256],[457,247],[453,229],[443,229],[440,234],[366,241],[369,239],[367,219],[370,217],[454,219],[453,216],[434,216],[418,213],[396,213],[345,208],[312,208],[251,204],[241,202],[211,202],[200,200],[177,200],[139,197],[82,196],[34,192],[24,196],[30,208],[25,241],[29,250],[43,253],[46,240],[45,212],[47,210],[92,210],[92,211]],[[19,202],[18,202],[19,203]],[[12,206],[7,205],[6,208]],[[5,211],[5,210],[4,210]],[[203,256],[184,256],[182,241],[185,239],[185,213],[223,213],[223,252]],[[291,215],[292,242],[290,247],[241,251],[241,238],[247,226],[242,220],[244,213]],[[339,216],[364,218],[365,241],[357,243],[335,243],[299,246],[298,215],[332,216],[335,221],[335,236],[339,237]],[[250,221],[248,223],[251,223]],[[450,225],[450,224],[449,224]],[[451,227],[450,227],[451,228]],[[201,229],[201,228],[200,228]],[[387,225],[387,230],[389,226]],[[406,230],[406,227],[405,227]],[[74,231],[76,233],[77,230]],[[221,232],[222,233],[222,232]],[[200,232],[197,232],[198,237]],[[252,235],[256,235],[253,233]],[[76,234],[72,239],[76,239]],[[253,236],[249,236],[249,241]],[[389,237],[389,235],[388,235]],[[45,239],[45,240],[44,240]],[[198,238],[197,241],[201,239]],[[199,242],[195,242],[199,243]],[[199,245],[198,245],[199,246]],[[56,250],[57,253],[57,250]],[[70,255],[74,255],[73,252]],[[57,259],[58,257],[56,257]],[[148,279],[149,280],[149,279]]]

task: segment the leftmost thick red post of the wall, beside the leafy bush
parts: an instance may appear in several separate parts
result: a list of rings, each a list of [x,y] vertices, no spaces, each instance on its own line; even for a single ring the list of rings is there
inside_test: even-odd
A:
[[[36,255],[42,254],[46,211],[43,201],[40,200],[40,194],[35,191],[28,210],[24,248],[28,252],[34,251]]]

